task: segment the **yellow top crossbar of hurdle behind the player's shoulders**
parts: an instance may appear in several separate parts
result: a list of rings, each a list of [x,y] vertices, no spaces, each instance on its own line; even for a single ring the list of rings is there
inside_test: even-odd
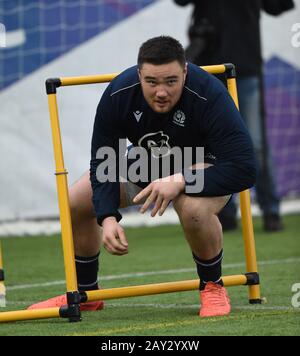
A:
[[[211,74],[225,73],[226,71],[226,67],[224,66],[224,64],[203,66],[201,68]],[[60,82],[61,86],[107,83],[112,81],[118,74],[119,73],[87,75],[80,77],[64,77],[60,78]]]

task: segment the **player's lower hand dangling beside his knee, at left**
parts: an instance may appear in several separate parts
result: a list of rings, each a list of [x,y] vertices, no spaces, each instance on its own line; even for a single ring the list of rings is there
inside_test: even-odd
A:
[[[116,218],[109,216],[102,222],[102,242],[104,248],[112,255],[126,255],[128,242],[125,232]]]

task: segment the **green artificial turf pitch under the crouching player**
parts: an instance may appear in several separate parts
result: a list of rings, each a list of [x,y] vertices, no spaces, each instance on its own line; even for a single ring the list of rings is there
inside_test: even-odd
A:
[[[248,304],[248,288],[228,288],[232,313],[200,319],[198,292],[108,300],[100,312],[84,312],[80,323],[45,319],[0,324],[4,335],[201,336],[300,335],[300,307],[293,307],[292,285],[300,283],[300,216],[284,217],[285,230],[265,233],[254,219],[262,296]],[[101,254],[102,288],[197,278],[181,227],[126,229],[127,256]],[[60,236],[2,240],[7,308],[26,306],[65,292]],[[223,275],[245,272],[241,230],[224,234]],[[102,277],[102,279],[101,279]],[[299,301],[299,298],[294,298]]]

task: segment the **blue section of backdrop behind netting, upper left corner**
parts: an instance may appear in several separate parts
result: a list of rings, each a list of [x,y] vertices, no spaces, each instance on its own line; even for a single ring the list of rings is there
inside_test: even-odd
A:
[[[0,1],[0,90],[155,0]]]

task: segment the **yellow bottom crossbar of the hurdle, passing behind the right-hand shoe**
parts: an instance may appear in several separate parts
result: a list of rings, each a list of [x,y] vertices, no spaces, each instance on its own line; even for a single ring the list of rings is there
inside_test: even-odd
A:
[[[235,275],[222,277],[225,286],[245,285],[247,278],[245,275]],[[101,289],[86,292],[88,301],[107,300],[117,298],[139,297],[152,294],[185,292],[199,288],[199,279],[178,282],[166,282],[157,284],[145,284],[140,286],[130,286],[121,288]]]

